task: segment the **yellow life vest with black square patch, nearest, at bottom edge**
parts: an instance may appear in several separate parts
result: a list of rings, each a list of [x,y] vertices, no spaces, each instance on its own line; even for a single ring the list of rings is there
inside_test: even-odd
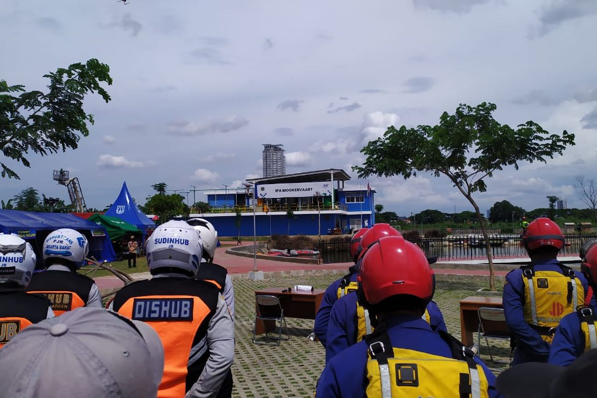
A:
[[[489,383],[469,348],[445,332],[452,357],[392,347],[386,332],[367,338],[367,397],[488,398]]]

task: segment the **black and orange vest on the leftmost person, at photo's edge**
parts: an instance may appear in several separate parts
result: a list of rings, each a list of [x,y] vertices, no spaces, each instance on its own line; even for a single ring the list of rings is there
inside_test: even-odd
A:
[[[27,326],[48,317],[44,297],[22,291],[0,292],[0,348]]]

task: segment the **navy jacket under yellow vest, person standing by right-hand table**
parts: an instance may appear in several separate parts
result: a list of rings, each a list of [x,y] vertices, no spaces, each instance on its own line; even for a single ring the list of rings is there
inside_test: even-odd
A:
[[[546,263],[534,264],[536,271],[559,271],[558,260],[550,260]],[[586,278],[580,272],[575,271],[576,277],[580,279],[584,294],[586,295],[589,285]],[[522,270],[515,269],[506,275],[504,284],[503,307],[506,323],[516,338],[516,351],[512,365],[524,362],[547,362],[549,356],[549,344],[543,341],[524,318],[524,283],[522,282]],[[583,303],[580,303],[583,304]]]

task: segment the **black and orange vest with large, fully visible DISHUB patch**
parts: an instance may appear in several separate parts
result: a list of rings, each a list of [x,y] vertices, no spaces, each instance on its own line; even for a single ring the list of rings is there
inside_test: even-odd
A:
[[[158,398],[183,397],[187,385],[190,388],[196,381],[187,380],[190,351],[207,334],[207,323],[216,310],[218,298],[214,285],[184,277],[140,280],[116,294],[113,309],[146,322],[162,341],[164,375]],[[198,378],[201,371],[193,373]]]

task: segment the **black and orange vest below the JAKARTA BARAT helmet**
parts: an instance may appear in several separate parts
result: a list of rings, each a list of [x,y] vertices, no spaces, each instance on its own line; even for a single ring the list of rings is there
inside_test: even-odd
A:
[[[93,279],[81,274],[46,270],[33,275],[27,293],[45,295],[52,303],[54,314],[59,316],[66,311],[84,307],[93,283]]]

